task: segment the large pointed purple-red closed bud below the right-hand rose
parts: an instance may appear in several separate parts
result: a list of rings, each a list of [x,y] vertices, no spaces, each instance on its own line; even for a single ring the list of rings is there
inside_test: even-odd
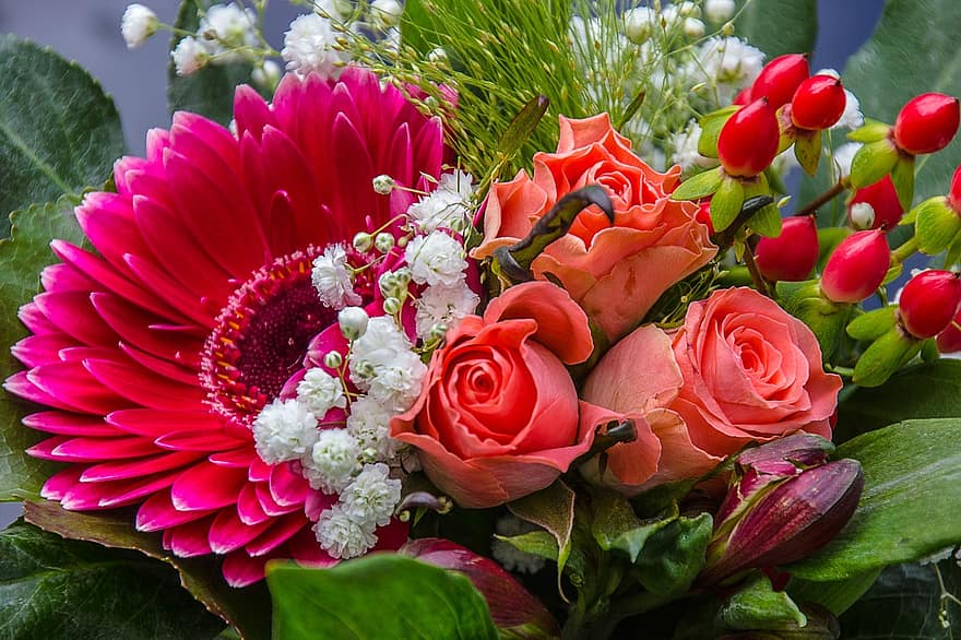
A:
[[[752,491],[748,505],[715,525],[700,583],[712,584],[745,569],[785,565],[810,555],[844,529],[864,488],[861,464],[850,459],[773,482],[773,488]],[[729,489],[738,490],[737,484]]]

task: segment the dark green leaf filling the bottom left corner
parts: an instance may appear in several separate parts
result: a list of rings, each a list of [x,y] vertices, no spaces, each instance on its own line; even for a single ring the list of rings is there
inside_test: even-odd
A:
[[[223,623],[141,554],[17,522],[0,533],[0,637],[212,638]]]

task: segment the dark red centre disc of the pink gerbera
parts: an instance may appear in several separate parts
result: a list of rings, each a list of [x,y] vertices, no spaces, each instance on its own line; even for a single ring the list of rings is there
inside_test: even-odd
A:
[[[201,354],[214,410],[249,426],[301,366],[310,339],[336,321],[310,282],[320,251],[308,247],[254,272],[221,311]]]

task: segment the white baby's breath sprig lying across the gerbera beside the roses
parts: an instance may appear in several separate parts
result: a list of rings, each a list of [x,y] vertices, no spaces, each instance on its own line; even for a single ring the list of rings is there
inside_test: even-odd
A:
[[[373,189],[402,187],[379,176]],[[252,430],[264,462],[293,463],[313,490],[336,498],[315,525],[334,558],[364,554],[390,522],[404,473],[390,420],[419,395],[430,349],[479,301],[459,234],[472,199],[471,176],[444,174],[400,218],[313,260],[311,281],[337,311],[335,331],[313,339],[305,368]]]

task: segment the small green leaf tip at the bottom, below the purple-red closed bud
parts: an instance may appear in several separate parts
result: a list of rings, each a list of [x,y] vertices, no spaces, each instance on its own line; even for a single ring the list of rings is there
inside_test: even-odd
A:
[[[717,612],[717,621],[733,630],[779,630],[785,626],[807,625],[807,617],[791,596],[774,591],[771,580],[757,573],[744,588],[732,595]]]

